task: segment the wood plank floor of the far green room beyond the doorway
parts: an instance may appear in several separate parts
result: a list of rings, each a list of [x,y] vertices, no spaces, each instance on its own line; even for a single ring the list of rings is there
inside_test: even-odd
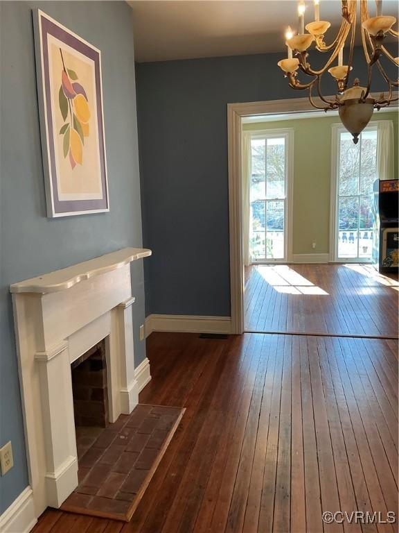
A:
[[[369,265],[247,267],[245,330],[398,338],[398,290]]]

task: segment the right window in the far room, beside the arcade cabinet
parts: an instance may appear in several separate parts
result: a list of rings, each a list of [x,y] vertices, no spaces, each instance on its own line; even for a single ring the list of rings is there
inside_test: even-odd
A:
[[[357,144],[342,126],[335,126],[333,135],[336,169],[332,246],[335,260],[371,261],[377,128],[366,128]]]

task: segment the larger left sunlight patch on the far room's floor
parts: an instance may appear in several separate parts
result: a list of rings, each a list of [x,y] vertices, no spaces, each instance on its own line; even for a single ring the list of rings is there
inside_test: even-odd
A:
[[[257,271],[275,291],[296,296],[329,296],[328,292],[317,287],[286,264],[276,266],[258,265]]]

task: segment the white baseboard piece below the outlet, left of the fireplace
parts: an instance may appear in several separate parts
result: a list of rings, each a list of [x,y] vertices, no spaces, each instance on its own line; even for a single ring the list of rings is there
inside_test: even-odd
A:
[[[36,522],[33,491],[30,487],[26,487],[0,516],[0,531],[1,533],[28,533]]]

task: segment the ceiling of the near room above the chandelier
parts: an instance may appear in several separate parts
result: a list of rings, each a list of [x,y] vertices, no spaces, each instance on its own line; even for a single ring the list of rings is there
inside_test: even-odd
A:
[[[136,61],[242,56],[284,50],[285,28],[296,28],[295,0],[130,0]],[[313,3],[305,22],[313,20]],[[375,3],[369,2],[374,13]],[[321,19],[341,21],[341,2],[321,0]],[[384,0],[398,17],[398,1]],[[328,32],[335,36],[334,27]],[[329,42],[328,33],[326,42]]]

